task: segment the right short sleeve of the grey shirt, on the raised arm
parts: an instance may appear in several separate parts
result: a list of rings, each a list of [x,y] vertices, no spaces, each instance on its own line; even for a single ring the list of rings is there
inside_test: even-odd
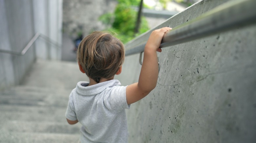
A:
[[[127,86],[115,86],[107,90],[109,93],[105,94],[106,96],[103,100],[109,110],[120,112],[123,109],[130,108],[130,105],[128,105],[126,101],[126,87]]]

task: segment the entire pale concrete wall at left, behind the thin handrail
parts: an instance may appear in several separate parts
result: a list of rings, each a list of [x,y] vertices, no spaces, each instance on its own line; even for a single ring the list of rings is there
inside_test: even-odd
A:
[[[49,21],[50,15],[62,14],[61,6],[62,0],[0,0],[0,48],[21,52],[36,32],[61,43],[61,16],[55,16],[54,21],[53,18]],[[45,13],[48,18],[44,18]],[[20,84],[36,57],[47,57],[44,49],[52,45],[46,44],[46,41],[40,38],[36,42],[38,43],[33,44],[24,56],[0,53],[0,90]],[[48,57],[60,59],[60,53],[54,51]]]

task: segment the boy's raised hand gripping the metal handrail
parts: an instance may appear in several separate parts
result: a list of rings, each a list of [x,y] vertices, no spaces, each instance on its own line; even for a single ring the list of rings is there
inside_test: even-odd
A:
[[[158,52],[161,52],[162,49],[159,48],[160,44],[161,44],[161,40],[162,40],[164,34],[171,29],[172,28],[170,28],[170,27],[163,27],[163,28],[154,30],[149,36],[149,39],[145,46],[145,50],[153,49]]]

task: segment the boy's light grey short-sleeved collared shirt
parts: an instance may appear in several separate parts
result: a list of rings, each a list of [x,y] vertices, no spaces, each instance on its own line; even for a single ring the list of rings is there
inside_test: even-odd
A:
[[[126,87],[118,80],[110,80],[88,86],[78,82],[69,96],[66,118],[78,120],[81,127],[80,141],[126,143],[128,138],[127,120],[124,109]]]

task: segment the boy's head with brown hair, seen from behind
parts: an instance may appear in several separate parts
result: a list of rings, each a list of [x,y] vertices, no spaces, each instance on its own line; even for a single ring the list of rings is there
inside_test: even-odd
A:
[[[77,59],[86,75],[99,83],[100,78],[114,76],[123,64],[124,45],[110,33],[93,32],[80,42]]]

